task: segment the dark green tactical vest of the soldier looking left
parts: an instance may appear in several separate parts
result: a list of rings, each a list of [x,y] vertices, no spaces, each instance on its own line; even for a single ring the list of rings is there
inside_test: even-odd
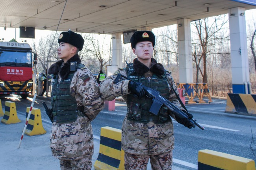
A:
[[[85,68],[83,64],[78,64],[80,69]],[[58,82],[58,74],[54,75],[52,82],[52,115],[53,122],[67,123],[76,121],[78,116],[78,109],[76,99],[70,93],[70,84],[75,71],[70,71],[67,79],[61,79]]]

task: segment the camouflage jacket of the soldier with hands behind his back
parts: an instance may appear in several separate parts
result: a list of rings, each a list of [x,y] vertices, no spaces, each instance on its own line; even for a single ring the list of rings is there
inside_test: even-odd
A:
[[[78,55],[75,55],[70,59],[79,62],[80,59],[78,60],[78,58]],[[58,62],[55,64],[60,64],[61,60]],[[61,78],[65,79],[65,76],[69,73],[67,73],[69,70],[63,70],[65,64],[60,71],[58,71],[58,68],[49,69],[49,74],[57,69],[59,81]],[[70,67],[67,67],[67,69],[70,69]],[[61,71],[64,71],[64,73]],[[54,122],[52,124],[50,147],[52,154],[59,159],[81,159],[83,155],[93,155],[91,121],[104,108],[104,101],[100,97],[98,84],[88,68],[76,70],[70,84],[70,93],[76,99],[77,105],[83,106],[85,115],[78,115],[76,121],[72,123]]]

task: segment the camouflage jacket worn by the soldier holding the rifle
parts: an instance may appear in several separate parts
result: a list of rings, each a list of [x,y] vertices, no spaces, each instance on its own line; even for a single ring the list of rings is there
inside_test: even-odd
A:
[[[151,58],[152,65],[151,68],[156,63],[156,60]],[[135,65],[136,64],[136,65]],[[144,70],[143,75],[147,78],[152,76],[152,71],[158,69],[144,69],[145,65],[141,65],[142,63],[134,59],[134,68],[138,65],[139,68],[143,68],[140,70]],[[163,66],[160,64],[158,65],[159,68],[163,69]],[[157,66],[157,67],[158,67]],[[147,66],[146,66],[147,67]],[[128,90],[128,82],[129,80],[122,80],[117,82],[116,84],[113,83],[115,80],[116,75],[121,73],[122,75],[126,75],[126,68],[118,69],[113,75],[106,77],[100,83],[100,93],[102,93],[102,98],[104,100],[111,101],[115,99],[115,97],[121,96],[127,103],[126,95],[130,93]],[[136,70],[136,69],[135,69]],[[138,73],[140,70],[136,70]],[[146,72],[145,72],[146,71]],[[163,72],[161,72],[163,73]],[[141,74],[141,73],[140,73]],[[166,71],[166,77],[168,81],[173,86],[176,93],[178,93],[177,87],[174,83],[173,77],[171,72]],[[181,108],[178,99],[173,92],[171,86],[169,85],[169,98],[168,100],[171,101],[173,104]],[[169,112],[169,115],[175,119],[175,116]],[[155,155],[165,152],[170,152],[174,148],[174,133],[173,133],[173,122],[169,121],[164,124],[155,124],[154,122],[150,121],[148,123],[140,123],[140,122],[133,122],[129,121],[127,118],[124,119],[122,124],[122,149],[124,152],[128,152],[130,154],[138,154],[138,155]]]

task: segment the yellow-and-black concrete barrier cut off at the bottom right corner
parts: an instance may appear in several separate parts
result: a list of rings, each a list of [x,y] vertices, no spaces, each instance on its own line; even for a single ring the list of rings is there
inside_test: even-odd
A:
[[[255,162],[252,159],[205,149],[198,152],[197,170],[255,170]]]

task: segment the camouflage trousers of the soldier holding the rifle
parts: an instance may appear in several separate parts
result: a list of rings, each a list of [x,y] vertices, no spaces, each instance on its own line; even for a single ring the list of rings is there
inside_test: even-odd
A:
[[[171,170],[173,151],[159,155],[135,155],[124,153],[125,170],[147,170],[148,160],[152,170]]]

